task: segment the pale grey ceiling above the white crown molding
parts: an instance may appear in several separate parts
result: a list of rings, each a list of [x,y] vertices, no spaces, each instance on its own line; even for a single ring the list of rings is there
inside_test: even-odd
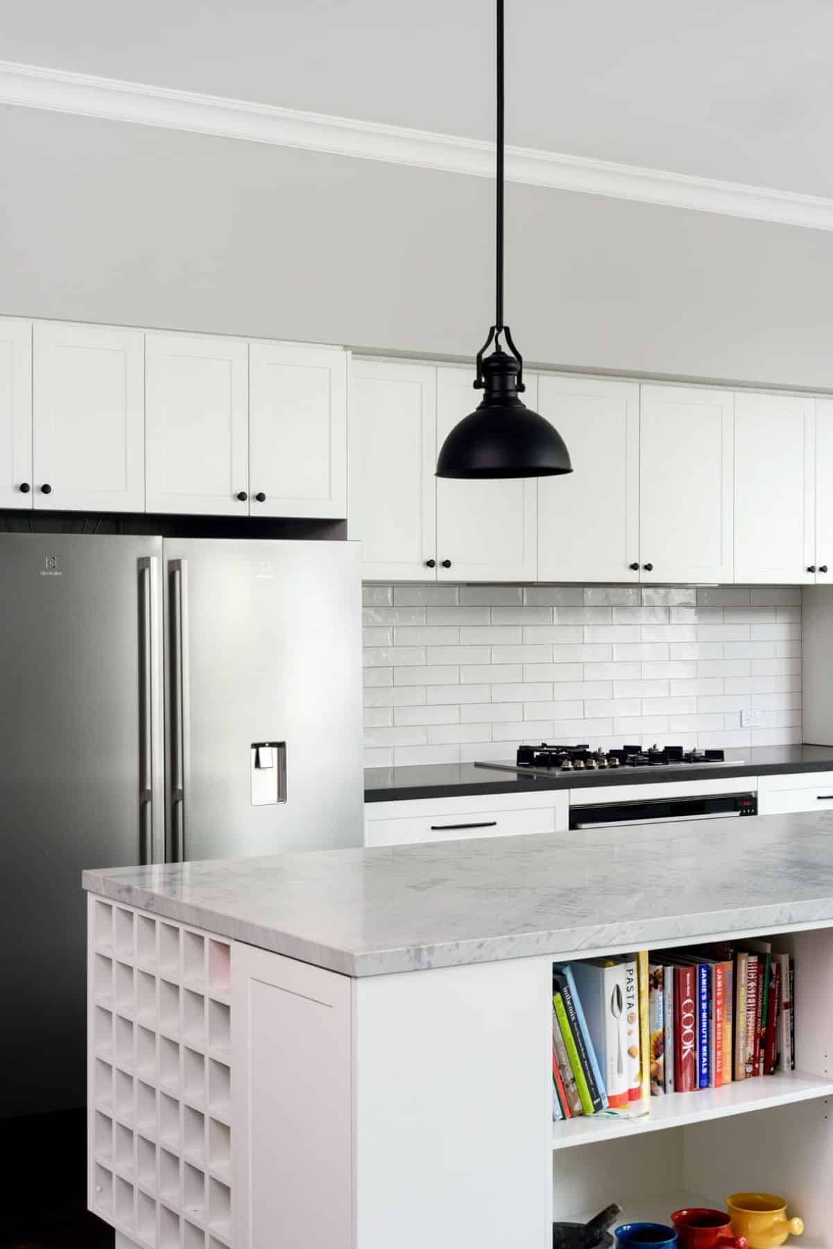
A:
[[[507,137],[833,196],[831,0],[508,0]],[[492,0],[26,0],[0,55],[491,137]]]

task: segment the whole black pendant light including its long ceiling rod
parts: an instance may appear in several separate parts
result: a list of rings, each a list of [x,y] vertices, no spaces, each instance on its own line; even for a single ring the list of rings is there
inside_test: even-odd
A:
[[[523,360],[503,323],[503,0],[497,0],[497,209],[495,325],[477,352],[475,388],[483,398],[456,425],[440,451],[437,477],[555,477],[572,472],[564,441],[548,421],[530,411]],[[501,346],[503,337],[508,352]],[[491,356],[483,358],[495,345]]]

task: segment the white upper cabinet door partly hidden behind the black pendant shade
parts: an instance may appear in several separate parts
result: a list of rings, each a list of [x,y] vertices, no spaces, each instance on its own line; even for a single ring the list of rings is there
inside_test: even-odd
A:
[[[473,411],[482,392],[468,368],[437,370],[437,452]],[[537,407],[537,377],[526,377],[525,402]],[[437,478],[437,580],[535,581],[537,481]],[[448,560],[451,567],[443,568]]]

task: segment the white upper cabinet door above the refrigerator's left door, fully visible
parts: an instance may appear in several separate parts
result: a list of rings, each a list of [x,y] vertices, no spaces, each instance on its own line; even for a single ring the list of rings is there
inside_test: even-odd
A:
[[[35,325],[36,508],[145,510],[144,340],[141,330]]]

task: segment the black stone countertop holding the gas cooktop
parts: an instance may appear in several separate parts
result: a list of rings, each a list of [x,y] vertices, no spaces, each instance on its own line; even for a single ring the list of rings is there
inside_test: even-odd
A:
[[[653,781],[703,781],[718,777],[772,776],[777,772],[833,772],[833,746],[759,746],[726,752],[732,766],[698,763],[681,768],[617,768],[612,772],[574,772],[518,776],[473,763],[427,763],[406,768],[366,768],[365,802],[413,798],[465,798],[490,793],[535,793],[541,789],[602,788],[608,784],[647,784]],[[507,763],[511,759],[506,761]]]

